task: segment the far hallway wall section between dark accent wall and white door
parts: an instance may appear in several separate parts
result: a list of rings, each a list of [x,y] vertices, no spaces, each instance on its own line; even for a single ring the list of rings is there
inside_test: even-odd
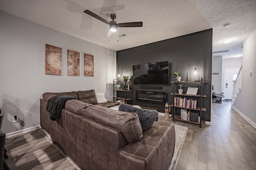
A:
[[[212,73],[218,73],[212,75],[212,86],[214,92],[221,91],[221,80],[222,80],[222,56],[216,56],[212,59]]]

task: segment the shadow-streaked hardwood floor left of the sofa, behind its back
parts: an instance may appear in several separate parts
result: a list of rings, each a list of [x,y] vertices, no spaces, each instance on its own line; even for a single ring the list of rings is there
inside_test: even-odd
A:
[[[11,170],[76,170],[38,130],[6,139],[5,148]]]

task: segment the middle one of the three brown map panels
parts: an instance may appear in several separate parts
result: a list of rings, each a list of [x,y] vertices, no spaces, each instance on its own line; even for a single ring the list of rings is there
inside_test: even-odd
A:
[[[80,53],[68,49],[68,75],[80,76]]]

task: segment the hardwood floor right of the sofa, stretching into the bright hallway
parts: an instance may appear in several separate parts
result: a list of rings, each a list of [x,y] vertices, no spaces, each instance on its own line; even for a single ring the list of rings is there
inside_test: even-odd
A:
[[[212,103],[211,114],[212,125],[202,128],[174,122],[188,127],[176,170],[254,170],[256,128],[231,108],[231,101]]]

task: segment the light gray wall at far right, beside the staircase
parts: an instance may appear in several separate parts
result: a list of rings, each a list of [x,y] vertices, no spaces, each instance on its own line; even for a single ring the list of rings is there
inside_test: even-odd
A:
[[[242,61],[242,91],[234,107],[256,124],[256,30],[244,41]],[[252,71],[252,76],[249,75]]]

